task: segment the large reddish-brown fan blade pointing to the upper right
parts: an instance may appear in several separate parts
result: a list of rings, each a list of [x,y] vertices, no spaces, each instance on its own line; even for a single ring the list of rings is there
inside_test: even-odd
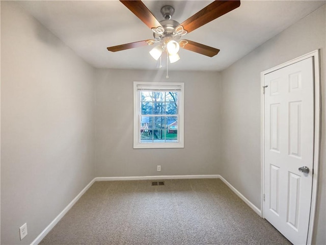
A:
[[[192,17],[183,21],[179,26],[182,26],[189,33],[239,6],[240,1],[214,1]]]

